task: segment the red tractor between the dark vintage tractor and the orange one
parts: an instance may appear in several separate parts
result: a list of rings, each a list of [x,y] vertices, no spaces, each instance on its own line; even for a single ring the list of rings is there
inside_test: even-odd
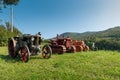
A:
[[[72,40],[70,38],[58,37],[56,39],[50,40],[50,45],[52,53],[74,53],[76,52],[75,46],[72,44]]]

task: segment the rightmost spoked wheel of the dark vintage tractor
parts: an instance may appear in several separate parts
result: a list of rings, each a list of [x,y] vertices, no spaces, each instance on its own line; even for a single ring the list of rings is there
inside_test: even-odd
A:
[[[52,55],[52,49],[49,45],[44,45],[42,48],[42,57],[43,58],[50,58]]]

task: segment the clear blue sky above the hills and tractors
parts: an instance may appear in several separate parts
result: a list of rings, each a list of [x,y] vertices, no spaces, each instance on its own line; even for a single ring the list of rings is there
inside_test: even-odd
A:
[[[20,0],[14,26],[23,34],[52,38],[64,32],[102,31],[120,26],[120,0]],[[0,23],[10,20],[9,7]]]

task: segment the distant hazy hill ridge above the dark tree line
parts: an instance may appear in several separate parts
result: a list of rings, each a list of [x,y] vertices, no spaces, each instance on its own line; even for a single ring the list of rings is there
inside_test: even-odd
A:
[[[84,32],[84,33],[75,33],[75,32],[65,32],[59,35],[60,37],[70,37],[75,40],[84,40],[88,38],[120,38],[120,26],[109,28],[104,31],[98,32]]]

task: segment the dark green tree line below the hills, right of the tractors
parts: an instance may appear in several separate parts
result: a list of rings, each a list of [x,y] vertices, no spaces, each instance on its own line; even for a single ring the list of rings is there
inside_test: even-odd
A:
[[[120,50],[120,38],[97,38],[95,37],[85,40],[91,50]],[[94,43],[94,47],[93,47]]]

